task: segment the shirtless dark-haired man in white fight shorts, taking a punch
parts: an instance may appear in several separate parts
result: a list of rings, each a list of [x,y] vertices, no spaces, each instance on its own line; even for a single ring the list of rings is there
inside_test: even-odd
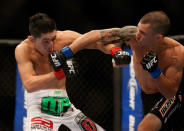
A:
[[[31,35],[15,49],[18,70],[27,91],[25,130],[104,130],[70,103],[66,93],[65,76],[75,77],[77,66],[73,59],[60,61],[59,52],[55,51],[70,45],[81,34],[56,30],[54,20],[43,13],[30,17],[29,31]],[[128,61],[125,61],[130,62],[128,53],[119,48],[117,50],[113,44],[106,46],[108,48],[102,44],[93,44],[86,48],[100,49],[103,52],[112,50],[113,54],[118,53],[115,60],[121,63],[126,58]],[[66,58],[70,57],[67,48],[62,51]]]

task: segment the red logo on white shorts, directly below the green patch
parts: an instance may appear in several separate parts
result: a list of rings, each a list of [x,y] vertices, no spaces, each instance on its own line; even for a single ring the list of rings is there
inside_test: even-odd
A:
[[[31,119],[31,130],[40,129],[43,131],[53,131],[53,122],[42,117],[34,117]]]

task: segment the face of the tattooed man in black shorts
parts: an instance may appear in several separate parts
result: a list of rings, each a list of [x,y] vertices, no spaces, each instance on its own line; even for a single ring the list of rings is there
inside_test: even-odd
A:
[[[141,47],[153,47],[156,42],[156,35],[150,28],[150,24],[138,23],[138,31],[136,34],[136,40]]]

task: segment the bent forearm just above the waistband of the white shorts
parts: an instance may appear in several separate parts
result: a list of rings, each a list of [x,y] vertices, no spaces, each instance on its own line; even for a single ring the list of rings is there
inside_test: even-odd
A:
[[[51,72],[39,76],[30,76],[27,80],[23,81],[23,85],[28,92],[34,92],[41,89],[50,89],[56,81],[58,80],[54,72]]]

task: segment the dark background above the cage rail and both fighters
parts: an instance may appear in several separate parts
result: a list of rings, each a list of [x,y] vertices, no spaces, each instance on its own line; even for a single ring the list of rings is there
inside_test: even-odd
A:
[[[171,34],[184,30],[183,0],[1,0],[0,38],[24,39],[28,18],[47,13],[59,30],[85,33],[92,29],[136,25],[147,12],[165,11],[171,19]]]

